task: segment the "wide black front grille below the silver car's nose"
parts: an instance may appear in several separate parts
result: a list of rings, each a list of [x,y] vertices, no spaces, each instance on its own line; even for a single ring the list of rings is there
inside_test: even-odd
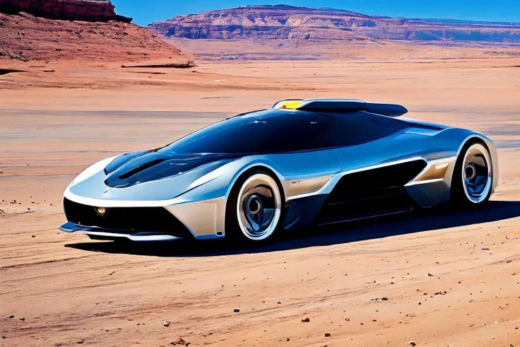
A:
[[[109,233],[155,233],[179,237],[191,235],[186,226],[163,207],[107,208],[106,215],[100,216],[94,206],[64,199],[64,210],[69,222],[101,228]]]

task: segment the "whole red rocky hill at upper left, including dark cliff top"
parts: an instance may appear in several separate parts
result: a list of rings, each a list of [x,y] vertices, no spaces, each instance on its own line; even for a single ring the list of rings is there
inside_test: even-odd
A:
[[[186,62],[130,21],[109,0],[0,0],[0,59]]]

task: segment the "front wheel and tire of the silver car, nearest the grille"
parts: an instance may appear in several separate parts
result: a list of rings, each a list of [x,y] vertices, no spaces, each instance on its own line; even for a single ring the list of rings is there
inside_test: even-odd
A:
[[[283,194],[276,177],[264,170],[245,172],[226,205],[225,236],[232,243],[271,241],[283,215]]]

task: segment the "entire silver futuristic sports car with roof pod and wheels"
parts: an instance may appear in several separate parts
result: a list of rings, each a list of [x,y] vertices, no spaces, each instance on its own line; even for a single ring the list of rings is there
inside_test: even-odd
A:
[[[61,230],[95,239],[259,242],[309,225],[478,206],[497,187],[495,144],[398,118],[400,105],[282,100],[167,146],[101,160],[64,193]]]

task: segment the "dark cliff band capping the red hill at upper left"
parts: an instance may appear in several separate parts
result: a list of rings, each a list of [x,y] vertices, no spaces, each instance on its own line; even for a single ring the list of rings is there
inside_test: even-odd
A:
[[[63,20],[130,23],[132,18],[119,16],[110,0],[0,0],[0,12],[30,13],[36,17]]]

